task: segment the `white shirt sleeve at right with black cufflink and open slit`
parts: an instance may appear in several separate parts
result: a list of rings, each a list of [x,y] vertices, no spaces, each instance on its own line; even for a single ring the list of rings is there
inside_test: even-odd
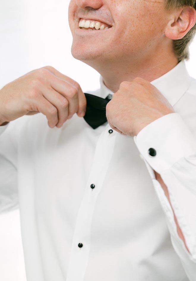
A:
[[[173,247],[189,280],[196,281],[196,138],[178,113],[170,113],[148,124],[134,141],[165,212]],[[154,171],[167,186],[190,253],[178,236],[172,208]]]

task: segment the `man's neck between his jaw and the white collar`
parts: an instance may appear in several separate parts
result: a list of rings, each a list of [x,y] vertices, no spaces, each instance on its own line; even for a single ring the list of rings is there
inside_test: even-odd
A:
[[[101,60],[101,59],[100,59]],[[170,71],[178,64],[178,59],[173,54],[161,53],[157,56],[153,54],[148,58],[116,60],[107,63],[100,61],[99,64],[91,66],[103,77],[105,86],[113,93],[118,91],[121,82],[132,81],[136,77],[141,77],[151,82]],[[104,66],[104,67],[102,67]]]

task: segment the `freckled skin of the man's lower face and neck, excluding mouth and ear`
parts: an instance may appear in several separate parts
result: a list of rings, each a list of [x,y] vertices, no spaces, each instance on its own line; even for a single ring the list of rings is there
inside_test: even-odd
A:
[[[97,10],[110,14],[112,29],[102,36],[76,35],[78,12],[88,16]],[[113,92],[135,77],[152,81],[178,63],[164,34],[170,17],[164,0],[71,0],[72,55],[96,69]]]

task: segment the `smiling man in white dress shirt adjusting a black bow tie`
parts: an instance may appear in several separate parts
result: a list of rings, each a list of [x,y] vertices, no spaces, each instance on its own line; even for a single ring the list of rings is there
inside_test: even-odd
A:
[[[28,281],[196,280],[195,8],[70,1],[72,55],[101,74],[92,108],[113,94],[95,129],[92,96],[52,67],[1,89],[1,210],[19,202]]]

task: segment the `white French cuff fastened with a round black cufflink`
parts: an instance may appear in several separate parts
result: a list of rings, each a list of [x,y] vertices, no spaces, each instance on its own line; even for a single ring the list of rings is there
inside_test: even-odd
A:
[[[144,127],[135,144],[157,173],[169,169],[182,157],[196,153],[196,139],[178,113],[169,113]]]

